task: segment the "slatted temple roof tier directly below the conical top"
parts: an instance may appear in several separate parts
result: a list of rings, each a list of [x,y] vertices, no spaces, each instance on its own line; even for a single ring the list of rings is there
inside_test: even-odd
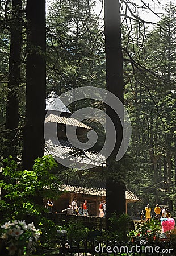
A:
[[[79,122],[77,119],[74,119],[73,117],[60,117],[58,115],[49,114],[48,117],[45,118],[45,122],[62,123],[64,125],[72,125],[92,130],[91,127],[85,125],[82,122]]]

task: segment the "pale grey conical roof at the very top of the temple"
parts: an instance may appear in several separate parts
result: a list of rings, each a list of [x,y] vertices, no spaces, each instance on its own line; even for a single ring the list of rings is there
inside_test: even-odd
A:
[[[46,99],[46,110],[71,113],[55,92],[49,93]]]

